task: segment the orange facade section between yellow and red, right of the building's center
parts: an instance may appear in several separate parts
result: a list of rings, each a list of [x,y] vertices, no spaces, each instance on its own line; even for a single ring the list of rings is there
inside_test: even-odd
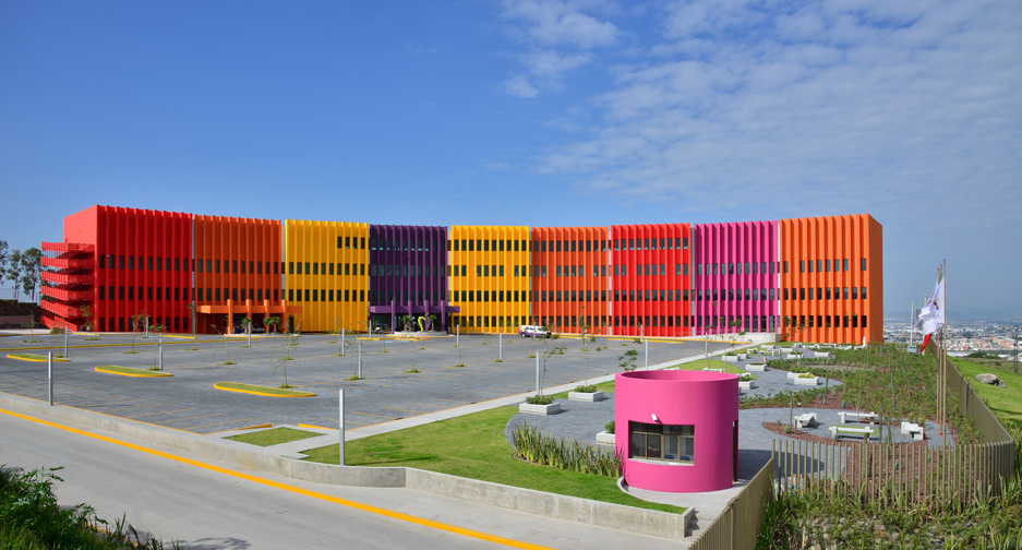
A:
[[[608,228],[532,228],[532,323],[608,333]]]

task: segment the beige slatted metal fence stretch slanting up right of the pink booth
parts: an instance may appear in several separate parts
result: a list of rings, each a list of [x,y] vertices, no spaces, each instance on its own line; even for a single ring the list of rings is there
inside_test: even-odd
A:
[[[762,525],[767,506],[773,502],[774,461],[769,462],[753,476],[742,489],[689,547],[690,550],[753,550]]]

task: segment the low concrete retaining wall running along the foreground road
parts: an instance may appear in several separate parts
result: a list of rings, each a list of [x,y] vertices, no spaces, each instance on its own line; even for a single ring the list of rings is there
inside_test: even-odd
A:
[[[688,509],[684,514],[671,514],[635,509],[416,468],[366,468],[296,461],[195,439],[169,428],[60,405],[51,407],[46,402],[3,393],[0,393],[0,408],[179,449],[203,458],[233,464],[245,470],[270,473],[318,483],[407,487],[508,510],[668,539],[685,538],[685,527],[693,512],[693,509]]]

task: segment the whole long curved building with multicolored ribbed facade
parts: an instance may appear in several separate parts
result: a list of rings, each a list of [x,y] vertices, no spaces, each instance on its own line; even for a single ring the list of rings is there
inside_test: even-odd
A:
[[[41,246],[44,323],[879,342],[882,247],[868,214],[448,228],[92,206]]]

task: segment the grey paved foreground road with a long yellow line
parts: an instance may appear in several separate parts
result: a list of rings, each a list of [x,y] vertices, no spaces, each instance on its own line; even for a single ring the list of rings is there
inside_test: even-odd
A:
[[[194,550],[536,548],[528,545],[564,549],[678,548],[675,541],[408,489],[335,487],[269,475],[214,471],[4,412],[0,412],[0,433],[3,433],[0,464],[64,467],[59,473],[64,482],[57,490],[62,504],[89,503],[107,519],[125,515],[140,530],[165,541],[180,540]],[[178,450],[115,439],[203,462]],[[413,518],[471,529],[476,536],[423,526],[413,519],[394,518],[324,498],[348,499]],[[493,537],[504,540],[494,541]]]

